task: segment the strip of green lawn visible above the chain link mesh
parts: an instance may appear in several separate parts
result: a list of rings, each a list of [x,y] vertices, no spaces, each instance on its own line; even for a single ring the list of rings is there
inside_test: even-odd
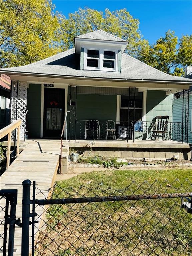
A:
[[[167,181],[169,183],[172,183],[178,179],[178,182],[174,182],[173,187],[167,188]],[[175,188],[175,186],[178,188],[179,184],[183,184],[183,187],[188,184],[185,180],[188,179],[192,183],[192,169],[166,169],[166,170],[110,170],[107,169],[106,171],[93,171],[90,173],[82,173],[76,177],[73,177],[69,180],[63,180],[58,182],[58,186],[61,186],[62,188],[78,188],[81,185],[84,185],[88,188],[95,188],[100,186],[99,184],[102,183],[102,189],[111,187],[114,189],[121,189],[128,187],[132,180],[135,181],[135,183],[142,184],[143,181],[147,181],[149,184],[154,183],[156,180],[155,187],[158,188],[158,184],[161,184],[161,188],[163,192],[165,190],[169,189],[169,191],[172,190],[172,188]],[[89,184],[89,181],[91,182]],[[165,182],[164,182],[165,181]],[[87,184],[88,183],[88,184]],[[143,188],[145,189],[146,186]],[[185,187],[184,187],[185,188]],[[187,189],[187,187],[186,187]],[[174,190],[174,189],[173,189]],[[174,191],[173,191],[174,192]]]

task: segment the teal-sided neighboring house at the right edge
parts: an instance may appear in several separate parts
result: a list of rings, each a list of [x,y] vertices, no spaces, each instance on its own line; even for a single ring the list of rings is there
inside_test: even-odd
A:
[[[192,66],[187,66],[185,68],[185,77],[192,79]],[[191,80],[192,81],[192,80]],[[184,109],[183,109],[183,99],[184,99]],[[188,106],[185,106],[188,105]],[[187,113],[188,112],[188,122],[185,120],[187,119]],[[183,118],[182,118],[183,117]],[[188,138],[185,138],[185,140],[188,143],[192,143],[192,86],[189,88],[189,95],[186,93],[180,92],[179,95],[174,95],[173,100],[173,122],[184,122],[184,130],[188,127],[188,132],[186,135],[188,135]]]

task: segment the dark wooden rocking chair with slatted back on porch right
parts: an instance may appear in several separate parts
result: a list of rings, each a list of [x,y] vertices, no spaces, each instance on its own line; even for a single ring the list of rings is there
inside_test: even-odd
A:
[[[155,118],[156,120],[153,124],[151,140],[156,140],[157,137],[162,137],[162,140],[166,140],[165,133],[167,133],[169,116],[156,116]]]

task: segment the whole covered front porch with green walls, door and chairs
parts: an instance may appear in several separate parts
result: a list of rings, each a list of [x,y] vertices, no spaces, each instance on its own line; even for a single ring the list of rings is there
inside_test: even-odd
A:
[[[188,85],[49,80],[12,81],[11,119],[23,119],[21,140],[58,139],[63,130],[66,141],[188,142]],[[172,122],[173,94],[181,91],[182,122]]]

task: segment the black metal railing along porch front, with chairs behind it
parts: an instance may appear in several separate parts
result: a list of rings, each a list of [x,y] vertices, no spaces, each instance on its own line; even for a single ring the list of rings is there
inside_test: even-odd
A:
[[[72,120],[66,122],[65,140],[138,141],[187,143],[182,122],[168,122],[168,116],[159,116],[152,121]]]

